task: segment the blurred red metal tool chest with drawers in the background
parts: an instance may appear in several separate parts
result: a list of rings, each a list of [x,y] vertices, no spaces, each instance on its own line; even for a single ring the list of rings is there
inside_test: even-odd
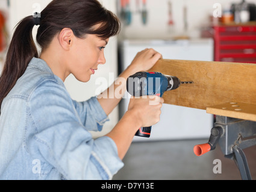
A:
[[[256,63],[256,25],[213,29],[214,61]]]

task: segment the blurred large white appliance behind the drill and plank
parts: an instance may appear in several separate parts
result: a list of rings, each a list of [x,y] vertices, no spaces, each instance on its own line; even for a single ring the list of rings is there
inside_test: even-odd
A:
[[[120,44],[120,70],[130,65],[137,52],[153,48],[164,59],[182,59],[195,61],[213,61],[213,41],[197,40],[125,40]],[[171,74],[169,74],[171,75]],[[126,112],[130,95],[126,92],[120,103],[120,117]],[[146,113],[146,112],[145,112]],[[213,115],[205,110],[163,104],[160,122],[152,126],[151,136],[134,137],[134,141],[201,139],[210,136],[213,127]]]

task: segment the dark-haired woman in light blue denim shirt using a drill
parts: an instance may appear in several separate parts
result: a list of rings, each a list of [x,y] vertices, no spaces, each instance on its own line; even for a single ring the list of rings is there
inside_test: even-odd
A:
[[[34,25],[40,25],[39,58]],[[64,87],[70,73],[90,80],[105,64],[104,47],[119,30],[117,17],[96,0],[54,0],[20,21],[0,78],[1,179],[111,179],[136,131],[159,121],[162,98],[131,98],[113,130],[93,140],[89,131],[101,131],[120,98],[78,103]],[[149,70],[160,58],[145,49],[120,78]]]

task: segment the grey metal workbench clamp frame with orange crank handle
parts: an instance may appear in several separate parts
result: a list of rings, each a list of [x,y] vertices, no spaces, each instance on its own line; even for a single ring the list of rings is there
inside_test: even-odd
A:
[[[226,116],[216,116],[216,122],[212,130],[219,130],[217,134],[211,136],[208,143],[196,145],[194,152],[198,156],[203,154],[201,149],[207,146],[208,152],[215,148],[219,142],[220,149],[226,158],[233,159],[239,168],[242,179],[251,180],[251,173],[242,149],[256,145],[256,122],[243,119],[229,118]]]

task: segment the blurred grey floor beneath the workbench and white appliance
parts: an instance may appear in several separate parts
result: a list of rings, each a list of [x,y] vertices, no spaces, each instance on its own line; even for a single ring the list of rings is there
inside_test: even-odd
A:
[[[125,166],[115,179],[241,179],[233,160],[225,158],[217,145],[214,151],[197,157],[193,146],[208,142],[202,140],[177,140],[161,142],[134,142],[123,162]],[[248,160],[252,179],[256,179],[256,146],[243,150]],[[213,161],[221,162],[221,173],[214,173]],[[215,167],[216,168],[216,167]]]

